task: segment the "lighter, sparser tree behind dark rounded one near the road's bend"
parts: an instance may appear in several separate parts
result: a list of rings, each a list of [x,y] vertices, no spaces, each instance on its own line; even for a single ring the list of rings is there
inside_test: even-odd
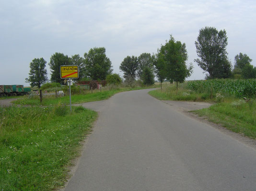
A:
[[[142,53],[138,57],[138,69],[137,69],[137,74],[138,77],[141,79],[142,77],[142,72],[145,67],[149,67],[150,69],[153,69],[153,60],[152,56],[150,53]]]

